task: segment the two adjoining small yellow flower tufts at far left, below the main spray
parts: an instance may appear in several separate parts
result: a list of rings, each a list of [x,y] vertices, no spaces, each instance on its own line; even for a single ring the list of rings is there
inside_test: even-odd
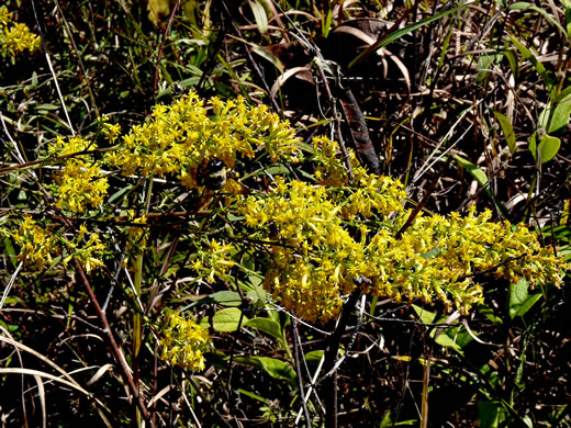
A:
[[[66,266],[71,258],[77,259],[87,273],[103,266],[100,259],[104,245],[98,234],[89,234],[86,225],[81,225],[74,240],[58,237],[49,229],[40,226],[32,217],[25,216],[20,228],[11,233],[14,243],[20,247],[18,259],[24,266],[35,266],[43,270],[52,266],[55,258],[64,256],[61,263]]]

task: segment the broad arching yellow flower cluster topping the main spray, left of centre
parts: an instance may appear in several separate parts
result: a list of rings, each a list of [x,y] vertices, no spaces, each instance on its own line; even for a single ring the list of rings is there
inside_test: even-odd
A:
[[[261,150],[272,161],[296,161],[299,139],[265,105],[248,106],[242,98],[213,98],[204,105],[191,92],[172,105],[156,105],[150,121],[133,126],[107,161],[126,176],[170,174],[192,189],[200,188],[197,172],[205,161],[234,168],[237,157],[250,159]]]

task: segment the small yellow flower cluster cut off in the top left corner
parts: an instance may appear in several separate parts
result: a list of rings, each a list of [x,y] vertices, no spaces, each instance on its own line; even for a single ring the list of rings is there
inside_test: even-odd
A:
[[[13,22],[8,8],[0,7],[0,54],[3,57],[15,56],[25,49],[33,52],[40,48],[40,42],[25,24]]]

